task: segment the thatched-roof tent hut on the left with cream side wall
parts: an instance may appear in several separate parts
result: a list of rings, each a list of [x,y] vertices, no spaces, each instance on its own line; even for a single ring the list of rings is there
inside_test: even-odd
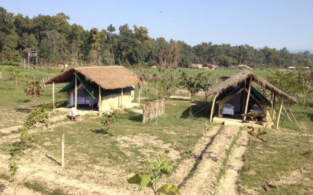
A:
[[[70,68],[46,84],[67,83],[59,93],[67,93],[69,107],[98,108],[99,113],[120,107],[130,108],[134,100],[134,86],[139,84],[136,74],[123,66]]]

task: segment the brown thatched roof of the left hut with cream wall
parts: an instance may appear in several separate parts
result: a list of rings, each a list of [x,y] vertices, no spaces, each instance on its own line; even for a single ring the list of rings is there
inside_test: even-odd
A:
[[[140,83],[138,76],[124,66],[95,66],[67,69],[45,84],[70,82],[74,79],[74,73],[84,76],[86,80],[103,89],[125,88]]]

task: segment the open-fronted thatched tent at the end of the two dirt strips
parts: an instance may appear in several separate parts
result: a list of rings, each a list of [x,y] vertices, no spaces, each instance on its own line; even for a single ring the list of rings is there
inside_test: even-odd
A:
[[[270,99],[252,86],[252,82],[269,90],[271,92]],[[290,103],[298,103],[297,100],[289,94],[248,70],[243,70],[225,79],[209,90],[207,95],[213,96],[210,122],[212,122],[214,116],[236,119],[243,118],[243,120],[246,120],[246,117],[242,117],[242,114],[246,114],[248,111],[252,110],[255,113],[264,115],[264,117],[258,118],[259,120],[267,121],[268,117],[272,117],[272,120],[276,121],[276,128],[278,128],[284,100]],[[277,115],[275,108],[276,98],[280,102]]]

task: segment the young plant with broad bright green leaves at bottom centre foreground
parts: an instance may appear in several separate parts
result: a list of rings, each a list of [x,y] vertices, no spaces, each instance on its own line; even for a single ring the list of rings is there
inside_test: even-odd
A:
[[[138,191],[148,187],[153,190],[154,195],[180,195],[179,189],[171,183],[157,188],[159,178],[168,174],[172,169],[172,163],[168,159],[158,155],[155,162],[143,161],[142,165],[146,172],[138,173],[127,179],[128,183],[139,185]]]

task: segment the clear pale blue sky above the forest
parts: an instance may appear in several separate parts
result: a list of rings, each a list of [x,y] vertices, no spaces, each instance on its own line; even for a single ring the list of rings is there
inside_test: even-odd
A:
[[[85,29],[136,24],[152,38],[191,45],[313,49],[313,0],[0,0],[0,6],[29,17],[64,12]]]

